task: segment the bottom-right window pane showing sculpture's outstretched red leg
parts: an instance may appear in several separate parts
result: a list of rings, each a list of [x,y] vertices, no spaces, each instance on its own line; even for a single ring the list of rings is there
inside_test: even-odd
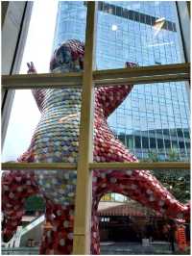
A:
[[[93,175],[97,203],[92,221],[99,222],[101,252],[171,254],[164,230],[172,224],[177,229],[182,222],[188,232],[190,224],[181,218],[189,215],[190,171],[94,169]],[[98,225],[93,225],[92,232],[97,231]],[[188,235],[186,240],[189,244]]]

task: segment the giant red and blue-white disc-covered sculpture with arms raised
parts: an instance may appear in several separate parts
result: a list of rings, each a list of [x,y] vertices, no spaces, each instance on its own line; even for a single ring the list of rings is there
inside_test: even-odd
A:
[[[132,68],[133,64],[128,64]],[[36,73],[28,64],[29,73]],[[72,39],[63,43],[52,58],[52,72],[81,71],[84,43]],[[95,90],[94,161],[138,162],[108,127],[110,115],[128,96],[132,86],[103,87]],[[81,112],[81,89],[33,90],[41,118],[30,147],[19,162],[77,163]],[[15,170],[2,176],[3,240],[12,238],[24,214],[24,201],[40,193],[46,203],[45,218],[51,230],[44,231],[40,254],[71,254],[73,246],[76,170]],[[188,218],[189,205],[181,204],[161,186],[148,170],[93,170],[91,253],[100,253],[97,208],[108,192],[129,196],[170,218]]]

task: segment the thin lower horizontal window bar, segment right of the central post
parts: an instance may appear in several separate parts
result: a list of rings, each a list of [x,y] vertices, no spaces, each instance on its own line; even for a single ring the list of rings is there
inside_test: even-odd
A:
[[[116,163],[90,163],[90,169],[190,169],[188,162],[116,162]]]

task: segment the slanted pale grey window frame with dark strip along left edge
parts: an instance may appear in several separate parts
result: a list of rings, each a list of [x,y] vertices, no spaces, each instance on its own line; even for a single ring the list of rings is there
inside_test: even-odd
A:
[[[17,9],[19,6],[19,9]],[[33,2],[23,1],[14,3],[12,1],[2,2],[4,13],[2,19],[2,74],[18,73],[24,46],[27,38],[27,33],[30,24],[30,18],[33,8]],[[15,26],[13,20],[17,20],[18,24]],[[10,40],[12,34],[12,40]],[[9,41],[9,42],[8,42]],[[12,111],[12,102],[14,98],[14,90],[1,91],[1,108],[2,108],[2,140],[1,148],[3,149],[4,141],[6,139],[8,124]]]

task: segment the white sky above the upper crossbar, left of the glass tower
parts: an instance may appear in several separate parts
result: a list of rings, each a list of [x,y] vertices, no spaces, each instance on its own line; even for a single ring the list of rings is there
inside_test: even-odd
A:
[[[34,62],[37,73],[49,72],[57,12],[57,2],[48,3],[46,10],[44,3],[34,2],[20,73],[27,73],[29,62]]]

